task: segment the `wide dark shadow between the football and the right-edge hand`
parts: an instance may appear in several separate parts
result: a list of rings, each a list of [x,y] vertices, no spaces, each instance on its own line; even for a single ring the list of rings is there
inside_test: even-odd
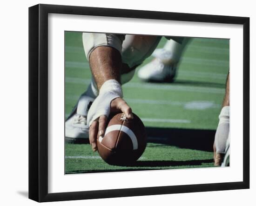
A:
[[[216,130],[146,127],[148,142],[213,152]]]

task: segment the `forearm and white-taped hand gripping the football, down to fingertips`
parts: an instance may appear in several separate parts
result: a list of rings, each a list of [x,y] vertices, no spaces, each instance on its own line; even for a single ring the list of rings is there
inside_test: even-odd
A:
[[[121,54],[113,47],[96,47],[89,57],[90,68],[100,90],[88,111],[89,140],[97,150],[97,137],[102,137],[111,112],[122,112],[133,118],[131,108],[122,100],[120,85]],[[118,83],[118,82],[119,83]],[[111,90],[111,91],[110,91]]]

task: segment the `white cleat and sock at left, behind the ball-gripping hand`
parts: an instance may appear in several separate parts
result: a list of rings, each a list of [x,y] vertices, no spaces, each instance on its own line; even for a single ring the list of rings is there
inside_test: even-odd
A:
[[[68,143],[88,143],[89,126],[87,124],[87,114],[94,98],[84,93],[79,98],[73,111],[65,122],[65,141]]]

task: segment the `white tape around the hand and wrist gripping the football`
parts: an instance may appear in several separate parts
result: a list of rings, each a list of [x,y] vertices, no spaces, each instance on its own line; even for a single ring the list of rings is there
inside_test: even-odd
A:
[[[88,111],[87,121],[89,126],[101,115],[109,116],[110,103],[117,97],[123,97],[120,83],[117,80],[106,81],[101,86],[99,96],[94,100]]]

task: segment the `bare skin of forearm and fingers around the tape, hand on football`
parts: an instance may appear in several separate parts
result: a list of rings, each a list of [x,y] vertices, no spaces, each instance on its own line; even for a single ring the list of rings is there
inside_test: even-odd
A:
[[[107,80],[117,80],[120,83],[121,54],[113,47],[96,47],[90,54],[90,68],[98,89]],[[111,101],[110,112],[121,111],[128,118],[133,118],[132,110],[121,98]],[[93,151],[97,150],[97,136],[104,135],[107,116],[101,115],[98,120],[93,121],[89,129],[89,140]]]

